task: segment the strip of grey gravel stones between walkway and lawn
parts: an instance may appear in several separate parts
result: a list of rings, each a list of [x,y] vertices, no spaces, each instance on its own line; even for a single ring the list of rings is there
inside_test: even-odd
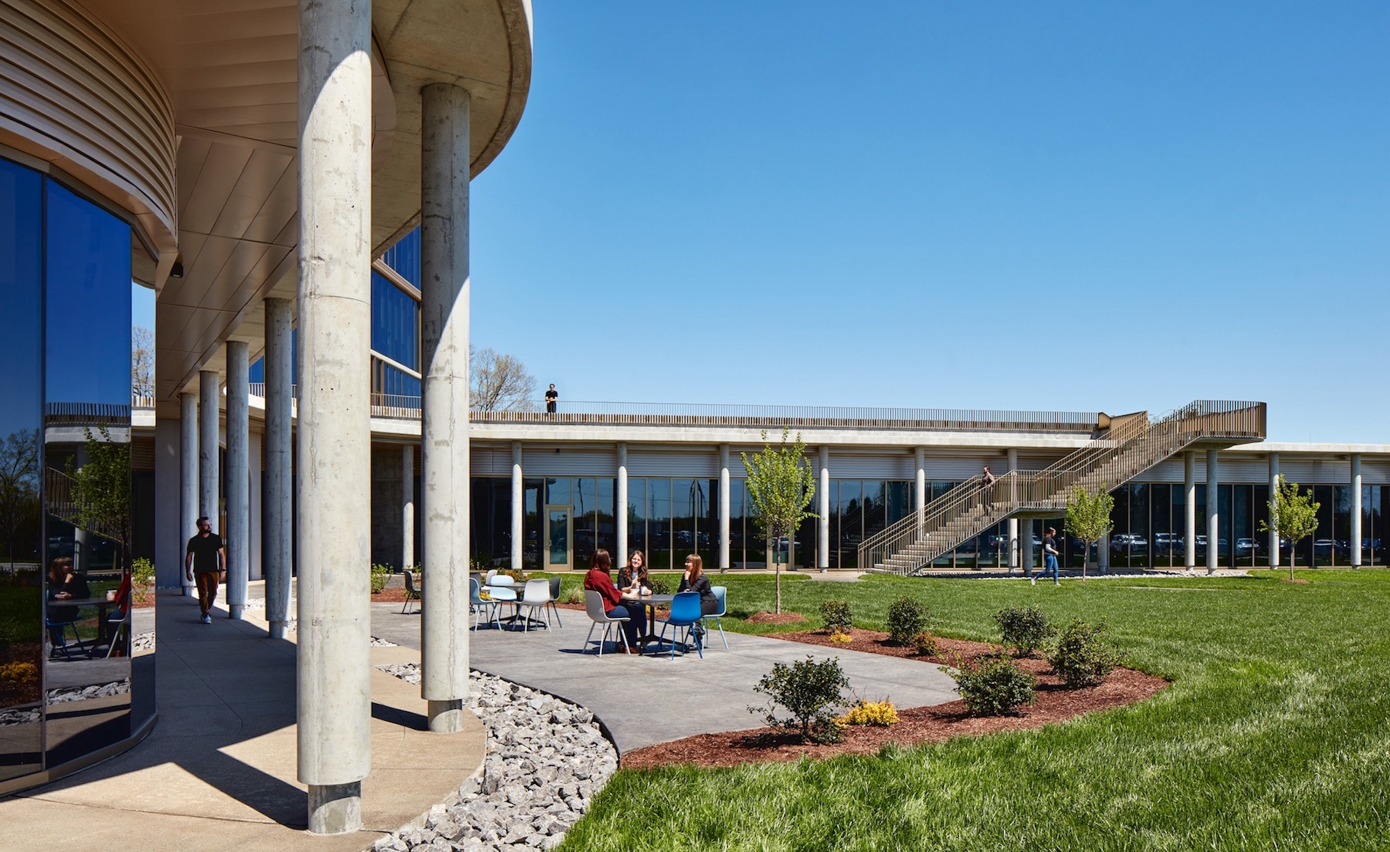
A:
[[[378,666],[420,683],[420,665]],[[468,709],[488,731],[481,777],[430,809],[421,828],[378,840],[378,852],[553,849],[617,772],[617,749],[594,713],[553,695],[470,670]]]

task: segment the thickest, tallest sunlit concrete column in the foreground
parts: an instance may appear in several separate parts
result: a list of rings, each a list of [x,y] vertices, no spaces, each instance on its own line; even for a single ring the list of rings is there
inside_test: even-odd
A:
[[[299,4],[297,80],[299,780],[309,830],[339,834],[361,827],[371,770],[367,0]]]

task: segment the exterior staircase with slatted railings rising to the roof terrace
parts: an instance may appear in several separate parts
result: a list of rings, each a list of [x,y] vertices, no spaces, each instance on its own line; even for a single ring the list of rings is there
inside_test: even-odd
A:
[[[1045,470],[1009,470],[986,486],[972,477],[859,545],[872,572],[912,574],[1011,516],[1058,518],[1080,486],[1113,490],[1154,465],[1202,444],[1230,447],[1265,438],[1265,404],[1198,400],[1158,419],[1115,418],[1109,427]]]

